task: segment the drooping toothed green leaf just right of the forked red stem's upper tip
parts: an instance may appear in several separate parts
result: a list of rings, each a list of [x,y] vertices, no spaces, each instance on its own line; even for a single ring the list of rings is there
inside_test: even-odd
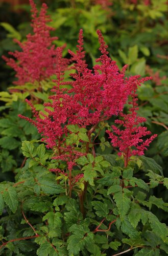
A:
[[[127,195],[125,195],[124,193],[122,192],[118,192],[116,193],[114,196],[114,201],[116,203],[116,206],[118,208],[118,213],[119,213],[119,216],[121,218],[121,220],[123,221],[129,208],[130,208],[130,203],[131,203],[131,200],[130,198],[128,198]]]

